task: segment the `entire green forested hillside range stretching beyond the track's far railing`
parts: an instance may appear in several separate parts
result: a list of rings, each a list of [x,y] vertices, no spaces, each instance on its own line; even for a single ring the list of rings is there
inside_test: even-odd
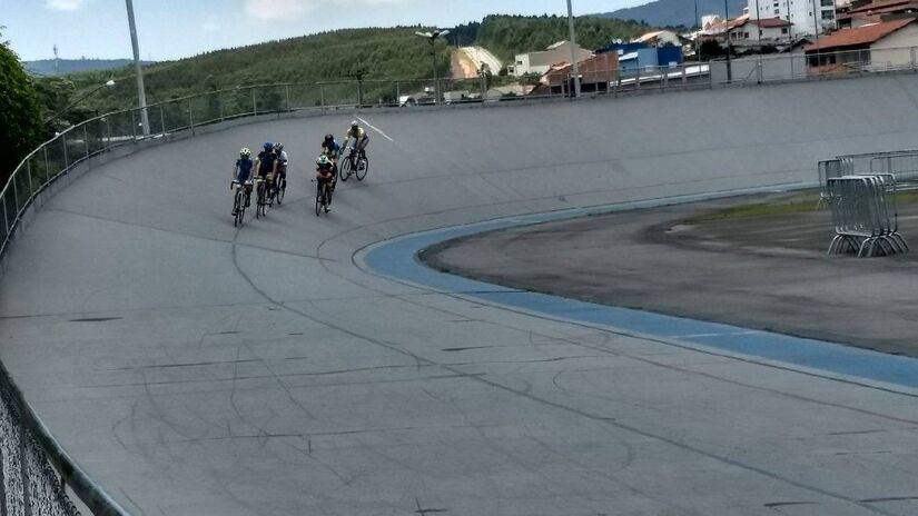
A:
[[[598,48],[613,39],[629,39],[649,30],[648,26],[614,19],[580,18],[576,20],[579,42]],[[392,29],[347,29],[324,32],[249,47],[219,50],[178,61],[144,67],[148,103],[156,103],[204,91],[231,89],[239,86],[365,80],[364,99],[394,101],[405,89],[419,90],[423,79],[432,76],[431,44],[415,36],[421,27]],[[510,61],[517,52],[541,50],[567,38],[567,21],[562,17],[490,16],[481,23],[460,26],[445,40],[437,40],[436,63],[440,77],[450,71],[451,44],[476,42]],[[73,99],[113,78],[116,86],[93,93],[68,111],[65,126],[96,113],[126,109],[137,105],[134,69],[72,73],[38,81],[39,96],[46,111],[57,112]],[[381,80],[414,80],[395,86]],[[476,79],[473,80],[476,83]],[[495,82],[496,81],[495,79]],[[456,85],[460,87],[461,85]],[[467,87],[467,86],[466,86]],[[296,88],[296,106],[314,106],[325,101],[355,102],[357,88]],[[268,103],[278,102],[274,92]],[[239,100],[240,102],[244,99]]]

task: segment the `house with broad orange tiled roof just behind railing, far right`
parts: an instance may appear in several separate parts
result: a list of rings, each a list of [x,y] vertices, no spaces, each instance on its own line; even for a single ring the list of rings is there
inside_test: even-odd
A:
[[[805,49],[811,71],[888,70],[915,67],[918,19],[902,18],[841,29]]]

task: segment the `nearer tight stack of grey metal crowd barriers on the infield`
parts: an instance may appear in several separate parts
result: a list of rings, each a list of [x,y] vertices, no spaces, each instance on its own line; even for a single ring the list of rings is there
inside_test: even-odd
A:
[[[899,235],[896,191],[891,173],[829,178],[827,195],[836,228],[829,254],[873,257],[907,252],[908,244]]]

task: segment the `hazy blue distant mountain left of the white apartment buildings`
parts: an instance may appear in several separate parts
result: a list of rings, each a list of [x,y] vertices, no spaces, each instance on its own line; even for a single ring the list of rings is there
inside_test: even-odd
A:
[[[730,17],[742,14],[747,0],[727,0]],[[723,17],[723,0],[698,0],[698,16],[719,14]],[[619,9],[594,14],[599,18],[644,21],[654,27],[694,27],[694,0],[657,0],[643,6]]]

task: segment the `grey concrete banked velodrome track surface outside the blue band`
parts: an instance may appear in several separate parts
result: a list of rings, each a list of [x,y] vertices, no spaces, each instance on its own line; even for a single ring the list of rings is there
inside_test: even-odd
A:
[[[915,514],[908,386],[502,308],[368,256],[502,217],[811,183],[818,159],[916,147],[916,98],[901,76],[368,111],[369,176],[323,218],[308,165],[353,115],[151,148],[17,240],[0,358],[138,515]],[[264,140],[287,145],[292,190],[236,230],[229,169]]]

